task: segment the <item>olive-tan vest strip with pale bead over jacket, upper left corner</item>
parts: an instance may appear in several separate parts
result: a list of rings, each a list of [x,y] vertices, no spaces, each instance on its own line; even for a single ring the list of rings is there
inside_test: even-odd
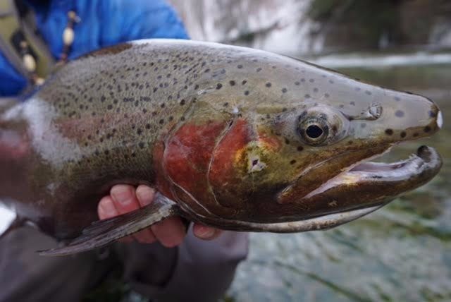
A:
[[[22,0],[0,1],[0,51],[28,86],[47,78],[55,64],[37,30],[35,14]]]

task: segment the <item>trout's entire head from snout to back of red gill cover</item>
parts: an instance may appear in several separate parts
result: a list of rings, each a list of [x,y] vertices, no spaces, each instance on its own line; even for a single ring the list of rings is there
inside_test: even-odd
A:
[[[254,49],[210,50],[190,115],[154,156],[188,212],[215,224],[297,222],[383,205],[438,173],[431,147],[370,162],[438,131],[426,97]]]

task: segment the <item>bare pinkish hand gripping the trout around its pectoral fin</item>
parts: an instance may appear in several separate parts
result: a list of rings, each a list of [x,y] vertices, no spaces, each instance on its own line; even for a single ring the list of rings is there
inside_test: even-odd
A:
[[[155,190],[149,186],[140,185],[137,188],[128,185],[116,185],[111,188],[110,195],[101,198],[97,207],[99,219],[107,219],[137,210],[154,201]],[[211,240],[221,234],[221,230],[194,224],[194,236],[204,240]],[[122,241],[130,242],[133,239],[140,243],[154,243],[160,241],[163,246],[172,248],[182,243],[186,229],[180,217],[168,217],[152,227],[127,236]]]

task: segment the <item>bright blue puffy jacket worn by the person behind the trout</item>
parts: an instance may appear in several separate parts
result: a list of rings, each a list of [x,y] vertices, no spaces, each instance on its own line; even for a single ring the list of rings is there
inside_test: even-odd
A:
[[[68,11],[81,19],[75,24],[75,40],[69,59],[120,42],[144,38],[187,39],[183,23],[163,0],[51,0],[43,6],[40,0],[28,0],[35,11],[37,28],[55,58],[63,49],[63,30]],[[0,53],[0,96],[17,95],[25,80]]]

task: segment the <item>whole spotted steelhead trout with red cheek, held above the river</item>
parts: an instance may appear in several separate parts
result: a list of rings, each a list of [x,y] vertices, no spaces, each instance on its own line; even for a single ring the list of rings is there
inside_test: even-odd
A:
[[[240,231],[328,229],[441,167],[426,146],[400,162],[369,162],[438,131],[440,111],[426,97],[223,44],[101,49],[26,102],[1,106],[0,200],[45,233],[75,238],[44,255],[104,246],[171,215]],[[95,222],[116,183],[160,193]]]

